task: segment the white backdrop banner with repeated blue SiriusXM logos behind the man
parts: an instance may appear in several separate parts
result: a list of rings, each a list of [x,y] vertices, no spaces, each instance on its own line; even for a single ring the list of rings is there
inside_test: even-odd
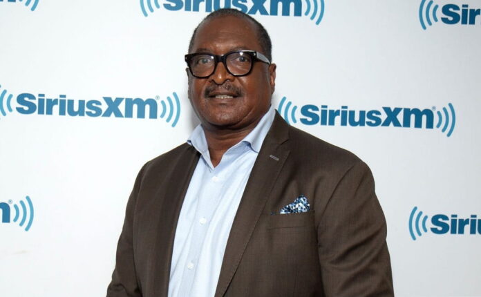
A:
[[[369,164],[397,296],[481,296],[481,0],[0,0],[0,295],[105,295],[223,7],[270,32],[285,120]]]

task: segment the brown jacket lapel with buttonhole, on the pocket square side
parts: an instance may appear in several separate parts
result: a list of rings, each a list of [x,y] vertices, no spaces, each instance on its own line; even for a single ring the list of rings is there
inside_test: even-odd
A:
[[[261,151],[252,168],[229,233],[229,240],[227,240],[217,282],[216,297],[224,296],[227,287],[229,287],[256,223],[261,216],[265,202],[267,202],[272,187],[281,172],[287,155],[289,155],[287,148],[281,146],[287,138],[288,126],[276,113],[274,122],[265,137]]]

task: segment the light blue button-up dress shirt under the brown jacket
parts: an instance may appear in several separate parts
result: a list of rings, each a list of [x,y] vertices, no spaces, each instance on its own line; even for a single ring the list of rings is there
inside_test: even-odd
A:
[[[201,154],[180,210],[173,242],[169,297],[214,296],[225,246],[274,107],[241,142],[212,166],[202,126],[187,142]]]

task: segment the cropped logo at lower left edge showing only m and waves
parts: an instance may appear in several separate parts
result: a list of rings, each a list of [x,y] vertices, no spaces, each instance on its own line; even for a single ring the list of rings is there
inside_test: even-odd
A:
[[[10,224],[13,221],[19,224],[20,227],[24,228],[25,231],[30,230],[34,217],[33,204],[30,197],[26,196],[25,200],[27,200],[27,204],[23,202],[23,200],[20,200],[20,207],[17,204],[13,204],[12,200],[8,200],[8,203],[0,202],[2,224]],[[12,214],[15,215],[13,219]]]

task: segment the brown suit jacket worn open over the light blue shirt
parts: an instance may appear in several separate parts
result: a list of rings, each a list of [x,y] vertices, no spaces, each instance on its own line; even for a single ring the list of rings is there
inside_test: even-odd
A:
[[[108,297],[167,297],[176,224],[198,159],[182,144],[140,171]],[[301,194],[309,212],[279,214]],[[215,296],[393,296],[386,222],[368,166],[276,115],[234,218]]]

